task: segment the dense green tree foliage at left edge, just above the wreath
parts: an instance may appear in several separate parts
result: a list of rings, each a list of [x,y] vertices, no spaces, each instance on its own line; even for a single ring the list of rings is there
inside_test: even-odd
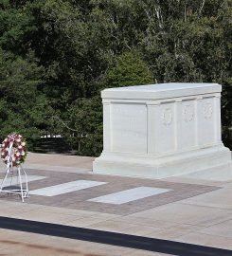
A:
[[[29,144],[41,134],[45,125],[46,99],[38,91],[44,68],[33,62],[33,56],[15,58],[0,50],[0,130],[1,137],[18,132]]]

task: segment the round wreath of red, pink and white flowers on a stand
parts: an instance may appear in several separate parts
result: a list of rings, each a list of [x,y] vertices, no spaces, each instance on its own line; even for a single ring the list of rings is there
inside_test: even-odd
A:
[[[8,161],[11,161],[12,166],[18,166],[22,164],[26,159],[26,138],[22,137],[21,135],[12,134],[5,137],[2,144],[0,145],[0,148],[1,158],[6,164],[8,163]]]

